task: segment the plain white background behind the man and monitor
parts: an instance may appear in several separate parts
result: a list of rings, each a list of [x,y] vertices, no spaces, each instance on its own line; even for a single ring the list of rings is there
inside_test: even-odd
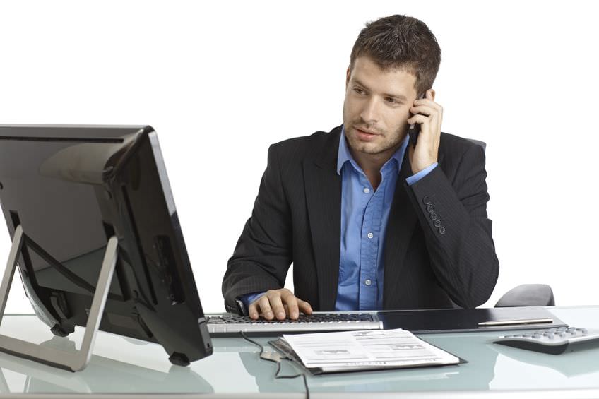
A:
[[[487,142],[501,294],[550,284],[598,304],[598,13],[567,1],[3,1],[1,124],[150,124],[205,311],[268,145],[341,123],[368,20],[424,20],[442,50],[442,130]],[[0,228],[0,258],[10,238]],[[1,263],[1,262],[0,262]],[[3,263],[4,264],[4,263]],[[13,285],[8,311],[30,311]]]

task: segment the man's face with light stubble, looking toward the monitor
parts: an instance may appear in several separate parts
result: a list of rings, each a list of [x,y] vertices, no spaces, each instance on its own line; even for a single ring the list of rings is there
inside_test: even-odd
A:
[[[366,56],[355,59],[343,102],[345,136],[355,157],[393,155],[408,130],[415,82],[412,73],[383,71]]]

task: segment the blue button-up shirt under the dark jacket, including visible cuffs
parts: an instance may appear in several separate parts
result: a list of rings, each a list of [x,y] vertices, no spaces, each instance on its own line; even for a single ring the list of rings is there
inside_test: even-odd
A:
[[[383,309],[384,242],[393,193],[408,136],[381,167],[381,184],[372,184],[353,159],[341,130],[337,173],[341,176],[341,247],[335,309],[338,311]],[[408,184],[425,177],[437,162],[406,179]],[[248,306],[264,292],[240,297]]]

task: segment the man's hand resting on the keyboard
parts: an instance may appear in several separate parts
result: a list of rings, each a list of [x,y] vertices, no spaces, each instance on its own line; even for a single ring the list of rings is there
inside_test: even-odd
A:
[[[311,314],[312,306],[295,297],[293,292],[287,288],[266,291],[261,297],[251,302],[248,308],[249,317],[256,319],[262,316],[266,320],[273,318],[283,320],[287,316],[295,320],[299,317],[299,311]]]

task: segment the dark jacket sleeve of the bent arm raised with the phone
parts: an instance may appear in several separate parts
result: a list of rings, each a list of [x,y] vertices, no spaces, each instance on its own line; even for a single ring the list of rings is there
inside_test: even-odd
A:
[[[450,182],[436,167],[406,189],[425,232],[437,280],[453,302],[473,308],[489,299],[499,274],[480,145],[465,150],[453,176]]]

